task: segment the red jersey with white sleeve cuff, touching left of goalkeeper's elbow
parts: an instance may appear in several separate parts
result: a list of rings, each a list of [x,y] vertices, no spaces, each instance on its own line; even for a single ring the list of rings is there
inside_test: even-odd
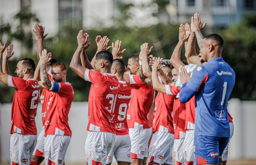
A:
[[[165,90],[167,95],[175,95],[173,103],[174,139],[185,138],[186,103],[181,103],[179,98],[176,98],[180,89],[175,86],[165,85]]]

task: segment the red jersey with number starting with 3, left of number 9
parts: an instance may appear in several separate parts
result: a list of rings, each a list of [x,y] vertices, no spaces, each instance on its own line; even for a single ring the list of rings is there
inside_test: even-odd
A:
[[[114,107],[118,79],[114,74],[101,74],[86,69],[85,80],[92,83],[89,93],[88,131],[116,133]]]

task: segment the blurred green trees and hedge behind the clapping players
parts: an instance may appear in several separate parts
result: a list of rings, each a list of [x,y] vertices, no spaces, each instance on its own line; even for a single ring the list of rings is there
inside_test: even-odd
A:
[[[232,97],[241,100],[256,100],[256,27],[254,21],[256,16],[248,16],[249,20],[243,19],[240,25],[233,25],[228,29],[218,32],[224,39],[222,57],[234,69],[236,73],[236,83],[231,94]],[[249,24],[249,25],[248,25]],[[8,27],[8,26],[7,26]],[[128,57],[140,51],[140,45],[148,42],[153,46],[151,54],[165,59],[171,58],[171,54],[178,43],[178,25],[153,25],[144,28],[128,28],[125,26],[102,28],[101,30],[86,30],[90,36],[90,47],[86,50],[88,59],[91,60],[97,51],[95,37],[97,35],[107,36],[112,42],[122,41],[122,49],[127,49],[122,54],[123,61],[127,65]],[[207,28],[207,27],[206,27]],[[1,26],[0,26],[1,29]],[[85,82],[70,68],[70,61],[77,49],[77,33],[80,29],[63,28],[56,36],[44,40],[45,48],[52,52],[52,57],[67,65],[67,81],[74,88],[74,101],[88,101],[91,83]],[[203,30],[203,33],[206,30]],[[45,32],[50,33],[50,32]],[[34,35],[34,34],[33,34]],[[205,35],[205,34],[204,34]],[[8,43],[7,43],[8,44]],[[34,46],[36,44],[34,43]],[[197,50],[198,46],[196,45]],[[15,50],[14,50],[15,51]],[[112,51],[112,48],[110,48]],[[185,49],[182,48],[181,60],[186,60]],[[31,57],[37,63],[36,52],[26,54],[23,57]],[[21,57],[21,58],[23,58]],[[17,60],[9,61],[11,73],[14,73]],[[0,102],[12,102],[13,88],[0,84]],[[3,94],[2,94],[3,93]]]

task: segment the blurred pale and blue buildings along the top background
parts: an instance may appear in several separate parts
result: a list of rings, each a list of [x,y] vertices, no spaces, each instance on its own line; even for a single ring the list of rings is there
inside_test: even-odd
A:
[[[63,26],[111,27],[122,12],[117,9],[119,2],[132,4],[124,11],[130,16],[127,26],[190,23],[191,16],[198,12],[202,22],[207,20],[207,26],[218,28],[239,23],[244,14],[256,13],[256,0],[0,0],[0,24],[13,23],[13,16],[26,8],[36,14],[51,36]],[[152,16],[157,9],[159,14]]]

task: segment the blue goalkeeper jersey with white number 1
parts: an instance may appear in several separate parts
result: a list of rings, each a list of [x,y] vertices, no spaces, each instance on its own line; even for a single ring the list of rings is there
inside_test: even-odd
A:
[[[196,96],[195,136],[229,137],[227,102],[235,84],[235,72],[222,57],[199,65],[179,92],[181,102]]]

